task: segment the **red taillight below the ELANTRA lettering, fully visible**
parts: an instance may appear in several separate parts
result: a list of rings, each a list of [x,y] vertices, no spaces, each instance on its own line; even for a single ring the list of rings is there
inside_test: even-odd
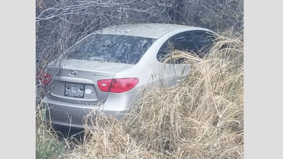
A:
[[[113,93],[127,92],[133,89],[138,83],[138,78],[116,78],[97,81],[97,85],[101,91]]]

